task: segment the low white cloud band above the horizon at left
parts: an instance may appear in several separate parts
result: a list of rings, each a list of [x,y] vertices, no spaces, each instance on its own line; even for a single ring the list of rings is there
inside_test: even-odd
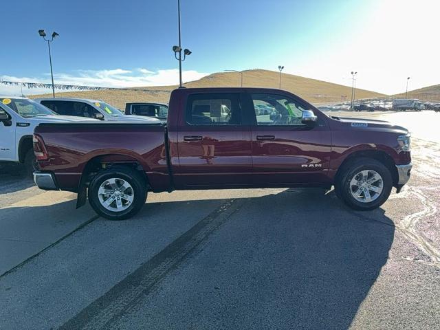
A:
[[[184,82],[198,80],[208,73],[186,70],[182,72]],[[50,75],[43,77],[0,76],[1,80],[21,81],[30,83],[51,83]],[[177,85],[179,83],[178,69],[159,69],[151,71],[144,68],[135,70],[107,69],[107,70],[78,70],[74,74],[54,74],[54,83],[62,85],[82,85],[99,87],[148,87]],[[23,87],[23,94],[49,93],[50,89],[28,89]],[[6,86],[0,84],[0,94],[21,95],[20,86]]]

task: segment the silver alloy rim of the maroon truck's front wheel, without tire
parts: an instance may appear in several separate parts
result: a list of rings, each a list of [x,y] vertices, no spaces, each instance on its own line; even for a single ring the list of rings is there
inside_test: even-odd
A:
[[[350,181],[351,196],[361,203],[370,203],[380,196],[384,180],[375,170],[362,170]]]

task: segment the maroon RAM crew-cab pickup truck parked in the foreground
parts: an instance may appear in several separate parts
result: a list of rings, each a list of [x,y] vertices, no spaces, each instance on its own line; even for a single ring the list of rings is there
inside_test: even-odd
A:
[[[261,88],[176,89],[166,124],[40,124],[34,151],[37,186],[78,192],[78,207],[88,195],[115,220],[138,212],[148,191],[190,189],[334,186],[351,208],[372,210],[412,166],[406,129]]]

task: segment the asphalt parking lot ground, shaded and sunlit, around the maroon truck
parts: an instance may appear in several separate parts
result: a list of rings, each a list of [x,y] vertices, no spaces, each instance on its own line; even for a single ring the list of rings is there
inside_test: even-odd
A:
[[[320,189],[149,194],[127,221],[0,175],[0,329],[440,329],[440,113],[412,177],[355,212]]]

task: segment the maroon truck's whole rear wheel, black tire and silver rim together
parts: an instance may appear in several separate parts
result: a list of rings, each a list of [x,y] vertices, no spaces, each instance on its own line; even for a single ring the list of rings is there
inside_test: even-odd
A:
[[[139,172],[124,166],[102,170],[89,186],[89,203],[100,216],[124,220],[140,211],[146,201],[146,182]]]

